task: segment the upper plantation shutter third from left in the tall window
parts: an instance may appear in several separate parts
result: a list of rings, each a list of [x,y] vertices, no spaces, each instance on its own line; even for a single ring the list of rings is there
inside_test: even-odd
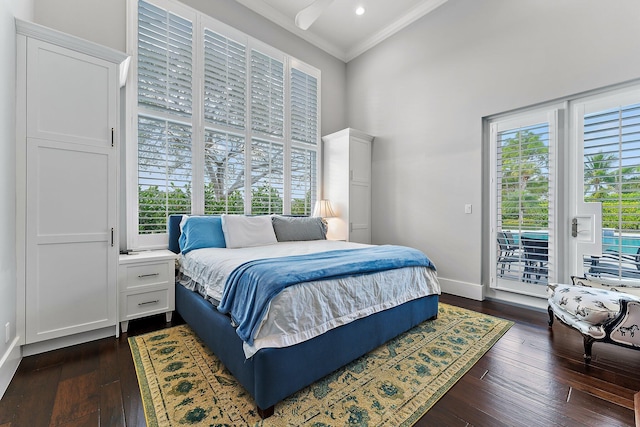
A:
[[[284,137],[284,64],[251,51],[251,129]]]

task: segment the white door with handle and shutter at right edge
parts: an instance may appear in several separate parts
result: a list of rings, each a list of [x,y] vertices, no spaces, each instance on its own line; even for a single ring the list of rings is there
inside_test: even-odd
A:
[[[640,89],[571,104],[571,274],[640,278]]]

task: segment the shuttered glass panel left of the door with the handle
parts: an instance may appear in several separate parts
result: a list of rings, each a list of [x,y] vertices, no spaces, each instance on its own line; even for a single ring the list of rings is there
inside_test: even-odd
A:
[[[491,286],[542,295],[555,277],[555,111],[492,123]]]

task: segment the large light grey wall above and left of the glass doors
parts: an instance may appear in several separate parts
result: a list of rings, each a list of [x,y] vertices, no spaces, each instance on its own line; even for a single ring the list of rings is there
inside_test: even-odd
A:
[[[640,78],[639,24],[637,0],[449,0],[349,62],[349,126],[376,136],[374,243],[424,250],[444,290],[481,297],[482,118]]]

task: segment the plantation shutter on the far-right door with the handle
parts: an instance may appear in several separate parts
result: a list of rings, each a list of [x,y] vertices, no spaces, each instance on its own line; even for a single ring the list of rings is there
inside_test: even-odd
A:
[[[584,272],[640,277],[640,104],[584,115],[584,201],[602,204],[602,257]]]

